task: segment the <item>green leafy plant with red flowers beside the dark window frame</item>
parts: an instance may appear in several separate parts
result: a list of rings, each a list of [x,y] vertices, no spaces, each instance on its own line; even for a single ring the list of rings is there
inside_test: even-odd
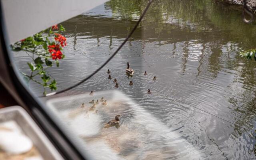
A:
[[[46,94],[46,88],[50,88],[50,90],[57,89],[56,80],[51,80],[51,76],[46,72],[46,69],[52,67],[53,63],[59,67],[59,60],[65,58],[62,50],[67,45],[66,38],[60,34],[63,31],[65,31],[65,28],[62,25],[58,27],[56,24],[11,45],[11,49],[15,52],[25,51],[32,54],[33,61],[27,63],[30,68],[30,74],[22,74],[28,82],[32,80],[42,85],[44,87],[43,94]],[[52,35],[54,35],[54,40],[50,40]],[[34,79],[35,76],[39,75],[42,82]]]

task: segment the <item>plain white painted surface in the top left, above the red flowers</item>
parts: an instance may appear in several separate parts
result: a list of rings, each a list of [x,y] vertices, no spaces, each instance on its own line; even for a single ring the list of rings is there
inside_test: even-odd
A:
[[[1,0],[9,41],[31,36],[107,0]]]

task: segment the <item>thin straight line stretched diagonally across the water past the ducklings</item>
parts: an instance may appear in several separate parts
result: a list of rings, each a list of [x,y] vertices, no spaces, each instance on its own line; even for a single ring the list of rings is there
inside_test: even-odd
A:
[[[70,49],[72,49],[72,48],[70,48]],[[77,50],[74,50],[74,51],[75,51],[75,52],[78,52]],[[90,58],[90,57],[86,56],[85,54],[83,54],[83,53],[81,53],[81,52],[78,52],[78,53],[80,53],[80,54],[82,54],[83,56],[89,58],[90,60],[92,60],[92,61],[94,61],[94,62],[96,62],[96,63],[102,65],[102,63],[100,63],[100,62],[94,60],[93,58]],[[115,70],[115,69],[113,69],[113,68],[110,68],[110,67],[108,67],[108,66],[106,66],[106,68],[108,68],[108,69],[110,69],[110,70],[114,70],[115,72],[117,72],[117,73],[119,73],[119,74],[121,74],[121,75],[123,75],[123,76],[126,76],[127,78],[132,79],[131,77],[127,76],[126,74],[122,74],[122,73],[118,72],[117,70]],[[177,100],[177,101],[179,101],[179,102],[181,102],[181,103],[187,104],[188,106],[191,106],[191,107],[193,107],[193,108],[196,108],[196,109],[198,109],[198,110],[200,110],[200,111],[202,111],[202,112],[205,112],[205,113],[207,113],[207,114],[210,114],[210,115],[212,115],[212,116],[214,116],[214,117],[216,117],[216,118],[219,118],[219,119],[221,119],[221,120],[223,120],[223,121],[226,121],[226,122],[229,122],[229,123],[231,123],[231,124],[234,124],[235,126],[238,126],[238,127],[240,127],[240,128],[244,128],[245,130],[248,130],[248,131],[253,132],[253,133],[256,134],[256,132],[253,131],[252,129],[245,128],[245,127],[243,127],[243,126],[240,126],[239,124],[236,124],[236,123],[234,123],[234,122],[231,122],[231,121],[229,121],[229,120],[226,120],[226,119],[224,119],[224,118],[221,118],[221,117],[219,117],[219,116],[217,116],[217,115],[215,115],[215,114],[212,114],[212,113],[210,113],[210,112],[207,112],[207,111],[205,111],[205,110],[202,110],[201,108],[198,108],[198,107],[196,107],[196,106],[193,106],[192,104],[189,104],[189,103],[184,102],[184,101],[182,101],[182,100],[179,100],[178,98],[175,98],[174,96],[171,96],[170,94],[167,94],[167,93],[164,93],[164,92],[162,92],[162,91],[160,91],[160,90],[157,90],[157,89],[155,89],[155,88],[153,88],[153,87],[151,87],[151,86],[148,86],[147,84],[144,84],[144,83],[142,83],[142,82],[140,82],[140,81],[138,81],[138,80],[134,80],[134,79],[133,79],[133,81],[138,82],[138,83],[140,83],[140,84],[143,84],[144,86],[147,86],[148,88],[151,88],[151,89],[153,89],[153,90],[156,90],[157,92],[160,92],[160,93],[162,93],[162,94],[164,94],[164,95],[166,95],[166,96],[169,96],[169,97],[171,97],[171,98],[173,98],[173,99],[175,99],[175,100]]]

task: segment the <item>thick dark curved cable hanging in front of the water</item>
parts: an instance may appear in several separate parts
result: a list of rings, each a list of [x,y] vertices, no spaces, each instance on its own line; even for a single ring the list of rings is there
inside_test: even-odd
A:
[[[97,70],[95,70],[92,74],[90,74],[88,77],[84,78],[83,80],[81,80],[80,82],[74,84],[73,86],[70,86],[64,90],[60,90],[58,92],[52,92],[49,94],[46,94],[45,96],[52,96],[55,94],[60,94],[62,92],[66,92],[68,90],[71,90],[72,88],[75,88],[76,86],[79,86],[80,84],[84,83],[86,80],[90,79],[92,76],[94,76],[94,74],[96,74],[97,72],[99,72],[104,66],[106,66],[106,64],[108,64],[108,62],[117,54],[117,52],[124,46],[124,44],[128,41],[128,39],[132,36],[132,34],[134,33],[134,31],[137,29],[138,25],[140,24],[142,18],[145,16],[146,12],[148,11],[148,8],[150,7],[150,4],[152,4],[153,0],[149,0],[148,1],[148,5],[146,6],[146,8],[144,9],[144,11],[142,12],[142,15],[140,16],[140,19],[137,21],[137,23],[135,24],[134,28],[132,28],[132,31],[130,32],[130,34],[125,38],[124,42],[122,42],[122,44],[117,48],[117,50],[112,54],[112,56],[110,56],[110,58],[108,58],[108,60],[106,60],[106,62],[104,64],[102,64],[102,66],[100,66]],[[42,97],[42,96],[40,96]]]

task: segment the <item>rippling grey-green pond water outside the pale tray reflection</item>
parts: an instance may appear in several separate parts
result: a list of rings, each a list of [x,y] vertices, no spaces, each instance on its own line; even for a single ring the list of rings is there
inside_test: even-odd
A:
[[[59,68],[48,70],[58,82],[58,90],[82,80],[104,63],[131,31],[146,4],[142,0],[111,0],[61,23],[66,28],[66,58]],[[256,62],[238,54],[240,49],[255,48],[254,26],[242,21],[239,6],[214,0],[155,0],[132,38],[107,65],[125,73],[126,62],[130,62],[135,70],[134,85],[129,86],[129,78],[110,70],[118,80],[115,88],[105,67],[60,96],[120,90],[161,125],[171,128],[163,134],[179,135],[170,144],[185,140],[200,152],[202,160],[254,159],[255,134],[187,105],[255,130]],[[14,59],[22,72],[28,72],[27,54],[15,53]],[[145,71],[148,76],[143,75]],[[154,76],[156,81],[152,81]],[[41,86],[29,85],[42,94]],[[154,88],[150,95],[148,86]],[[163,148],[168,143],[152,145]],[[154,157],[170,158],[179,159]]]

